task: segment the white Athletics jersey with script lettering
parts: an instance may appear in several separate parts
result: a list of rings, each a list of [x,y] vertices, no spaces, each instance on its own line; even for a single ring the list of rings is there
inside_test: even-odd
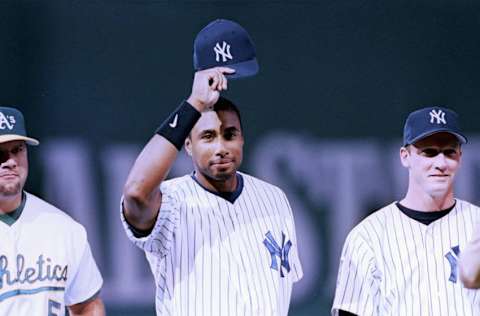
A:
[[[102,286],[85,229],[32,194],[0,240],[0,315],[65,315]]]

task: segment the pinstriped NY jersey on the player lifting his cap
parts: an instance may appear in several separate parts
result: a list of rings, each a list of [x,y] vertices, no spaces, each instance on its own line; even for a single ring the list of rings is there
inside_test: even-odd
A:
[[[157,315],[287,315],[303,275],[290,205],[279,188],[239,178],[233,203],[191,175],[163,182],[147,237],[135,238],[121,212],[155,277]]]

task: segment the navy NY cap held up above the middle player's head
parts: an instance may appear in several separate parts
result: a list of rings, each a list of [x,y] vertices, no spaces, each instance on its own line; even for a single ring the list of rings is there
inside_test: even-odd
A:
[[[213,67],[230,67],[235,73],[227,78],[257,74],[258,61],[250,35],[238,23],[217,19],[205,26],[193,44],[193,67],[196,71]]]

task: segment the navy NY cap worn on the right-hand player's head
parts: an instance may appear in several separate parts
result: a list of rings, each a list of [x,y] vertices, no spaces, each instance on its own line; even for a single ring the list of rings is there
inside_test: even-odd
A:
[[[467,142],[467,138],[460,131],[458,114],[450,109],[435,106],[423,108],[408,115],[403,129],[403,145],[414,144],[440,132],[455,135],[461,144]]]

